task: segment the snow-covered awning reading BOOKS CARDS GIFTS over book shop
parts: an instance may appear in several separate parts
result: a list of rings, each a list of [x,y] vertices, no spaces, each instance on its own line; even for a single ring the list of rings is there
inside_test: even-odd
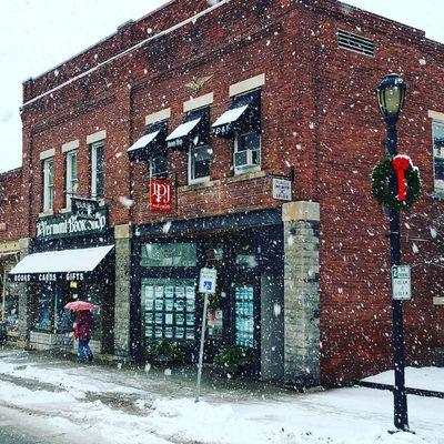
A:
[[[8,276],[14,282],[82,281],[113,248],[114,245],[107,245],[29,254]]]

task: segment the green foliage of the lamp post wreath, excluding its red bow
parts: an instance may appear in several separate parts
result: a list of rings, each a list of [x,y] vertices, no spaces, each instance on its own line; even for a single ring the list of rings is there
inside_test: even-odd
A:
[[[420,170],[413,167],[412,163],[405,170],[405,181],[407,184],[406,199],[405,201],[400,201],[390,190],[390,178],[394,174],[392,161],[393,159],[384,159],[376,163],[371,174],[371,193],[384,206],[395,211],[408,211],[420,196]]]

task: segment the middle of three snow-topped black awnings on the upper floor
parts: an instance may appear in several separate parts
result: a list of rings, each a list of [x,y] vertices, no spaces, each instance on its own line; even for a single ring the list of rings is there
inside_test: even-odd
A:
[[[188,150],[190,143],[200,145],[209,142],[210,138],[210,109],[203,108],[191,111],[168,138],[167,145],[170,149]]]

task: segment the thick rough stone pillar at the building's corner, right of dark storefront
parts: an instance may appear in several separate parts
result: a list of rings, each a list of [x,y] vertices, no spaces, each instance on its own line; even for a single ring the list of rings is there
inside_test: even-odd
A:
[[[284,379],[320,385],[320,204],[289,202],[284,225]]]

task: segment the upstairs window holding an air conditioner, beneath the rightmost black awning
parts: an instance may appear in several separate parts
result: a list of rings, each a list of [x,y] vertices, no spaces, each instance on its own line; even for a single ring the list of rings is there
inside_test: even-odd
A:
[[[234,174],[261,170],[262,134],[260,131],[236,132],[234,137]]]

